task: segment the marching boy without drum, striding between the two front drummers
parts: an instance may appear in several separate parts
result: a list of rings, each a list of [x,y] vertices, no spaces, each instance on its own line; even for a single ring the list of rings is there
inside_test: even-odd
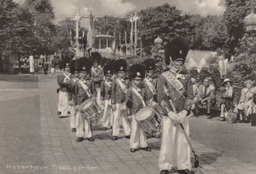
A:
[[[112,92],[111,92],[111,104],[113,109],[113,127],[112,135],[113,140],[117,140],[119,137],[119,119],[123,121],[123,127],[125,132],[125,138],[130,138],[131,135],[131,126],[129,121],[124,117],[120,118],[120,106],[125,102],[125,93],[127,88],[130,86],[129,81],[125,81],[125,71],[127,68],[127,63],[125,59],[118,59],[115,63],[116,78],[112,82]]]

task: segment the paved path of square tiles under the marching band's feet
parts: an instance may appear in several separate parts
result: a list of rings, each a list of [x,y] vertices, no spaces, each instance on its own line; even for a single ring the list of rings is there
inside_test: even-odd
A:
[[[33,173],[44,172],[50,174],[159,173],[157,165],[160,153],[159,139],[151,138],[148,140],[149,145],[153,148],[151,152],[140,150],[131,154],[127,139],[120,138],[118,141],[112,141],[109,130],[104,132],[100,126],[93,126],[96,141],[90,143],[84,140],[82,143],[77,143],[75,134],[69,128],[69,118],[60,118],[56,115],[57,94],[55,89],[57,84],[55,76],[38,76],[38,80],[40,125],[37,122],[32,129],[32,131],[39,131],[39,135],[36,132],[34,133],[40,139],[40,144],[36,142],[38,159],[35,158],[32,164],[38,168],[26,170],[3,169],[4,165],[6,165],[6,160],[2,158],[1,154],[0,162],[3,164],[1,167],[4,174],[6,171],[8,171],[7,173],[28,173],[27,171],[33,171]],[[35,104],[37,103],[35,102]],[[28,118],[25,119],[27,120]],[[9,124],[9,122],[6,121],[5,124]],[[198,126],[195,120],[191,126],[192,134],[193,130],[195,130],[193,126]],[[0,135],[2,139],[2,131]],[[123,136],[123,132],[121,132],[121,136]],[[0,143],[2,151],[9,150],[8,146],[3,147],[3,142],[0,141]],[[29,144],[28,142],[26,143]],[[202,143],[204,142],[193,141],[201,162],[201,166],[194,169],[196,173],[255,173],[256,166],[253,166],[253,164],[236,160],[232,156],[224,156],[223,152],[218,151],[218,149]],[[14,151],[10,154],[14,155],[16,153]],[[14,165],[22,165],[31,160],[12,161]],[[194,158],[192,158],[193,161]],[[175,173],[175,170],[172,173]]]

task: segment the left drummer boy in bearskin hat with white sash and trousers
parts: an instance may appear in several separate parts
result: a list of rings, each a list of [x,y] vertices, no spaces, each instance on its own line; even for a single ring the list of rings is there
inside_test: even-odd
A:
[[[80,58],[78,60],[78,70],[79,70],[79,81],[76,82],[75,87],[75,99],[74,104],[77,105],[76,109],[78,111],[78,123],[77,123],[77,142],[81,142],[84,138],[88,139],[90,142],[94,141],[91,132],[91,123],[82,117],[79,112],[80,104],[84,103],[87,99],[96,97],[96,89],[94,83],[90,80],[90,59]]]

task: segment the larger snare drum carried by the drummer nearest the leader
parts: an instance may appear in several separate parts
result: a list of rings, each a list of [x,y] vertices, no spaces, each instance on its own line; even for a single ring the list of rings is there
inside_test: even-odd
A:
[[[148,132],[150,134],[160,134],[162,126],[161,126],[161,117],[154,110],[154,108],[145,106],[143,109],[140,109],[136,115],[135,119],[138,124],[143,128],[144,132]]]

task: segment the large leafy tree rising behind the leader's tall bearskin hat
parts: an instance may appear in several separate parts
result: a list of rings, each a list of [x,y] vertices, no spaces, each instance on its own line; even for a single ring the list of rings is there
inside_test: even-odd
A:
[[[164,41],[170,40],[177,34],[189,37],[189,15],[181,14],[181,10],[168,3],[141,10],[139,16],[143,26],[143,46],[150,47],[157,36]]]

